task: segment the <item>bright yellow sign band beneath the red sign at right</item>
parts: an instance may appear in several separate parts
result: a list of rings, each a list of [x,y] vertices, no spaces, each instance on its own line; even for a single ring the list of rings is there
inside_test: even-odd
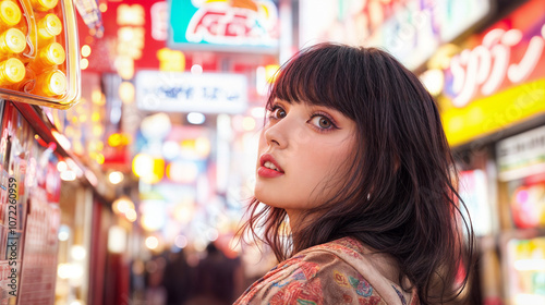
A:
[[[458,146],[545,114],[545,80],[474,100],[464,108],[456,108],[448,98],[440,97],[439,106],[447,139],[450,146]]]

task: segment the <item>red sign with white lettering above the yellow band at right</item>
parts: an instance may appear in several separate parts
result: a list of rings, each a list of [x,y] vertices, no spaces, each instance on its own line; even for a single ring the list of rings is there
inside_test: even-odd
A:
[[[545,77],[545,2],[532,0],[470,39],[479,45],[453,57],[445,94],[456,107],[516,84]],[[471,42],[470,42],[471,44]]]

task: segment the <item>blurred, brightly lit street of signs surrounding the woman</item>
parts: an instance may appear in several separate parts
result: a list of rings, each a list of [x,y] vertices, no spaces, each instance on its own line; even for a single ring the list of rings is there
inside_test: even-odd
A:
[[[0,32],[1,304],[231,304],[277,263],[237,239],[268,86],[322,41],[437,99],[468,302],[545,304],[544,0],[1,0]]]

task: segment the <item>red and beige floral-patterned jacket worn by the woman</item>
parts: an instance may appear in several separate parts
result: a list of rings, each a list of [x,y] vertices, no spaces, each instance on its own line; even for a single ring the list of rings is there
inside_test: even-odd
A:
[[[387,255],[373,254],[355,239],[343,237],[282,261],[234,304],[419,305],[416,290],[407,293],[397,283],[395,266]]]

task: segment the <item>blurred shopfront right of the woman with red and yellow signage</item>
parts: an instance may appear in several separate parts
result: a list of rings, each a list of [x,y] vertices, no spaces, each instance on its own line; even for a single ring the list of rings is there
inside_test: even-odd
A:
[[[443,123],[477,236],[483,304],[545,302],[544,11],[543,1],[523,3],[436,65]]]

